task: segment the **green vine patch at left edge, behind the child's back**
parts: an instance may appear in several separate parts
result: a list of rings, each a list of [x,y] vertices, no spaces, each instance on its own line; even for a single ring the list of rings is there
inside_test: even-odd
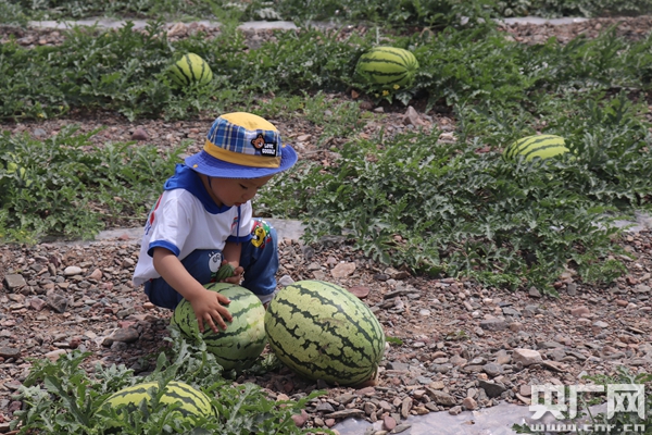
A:
[[[142,220],[181,151],[161,157],[152,146],[98,148],[90,144],[98,132],[76,133],[67,127],[43,141],[0,136],[1,239],[88,238],[127,216]]]

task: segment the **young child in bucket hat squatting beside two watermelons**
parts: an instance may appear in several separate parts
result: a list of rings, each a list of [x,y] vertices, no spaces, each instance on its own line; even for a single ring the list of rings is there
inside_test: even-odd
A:
[[[187,299],[203,332],[226,330],[230,301],[204,284],[228,262],[226,282],[240,284],[267,303],[276,289],[276,232],[252,219],[251,199],[273,176],[297,162],[276,127],[251,113],[215,120],[202,151],[177,164],[149,213],[134,284],[159,307]],[[247,274],[244,274],[247,271]]]

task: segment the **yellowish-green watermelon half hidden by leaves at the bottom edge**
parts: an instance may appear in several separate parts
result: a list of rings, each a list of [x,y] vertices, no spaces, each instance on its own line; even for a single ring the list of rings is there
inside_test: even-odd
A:
[[[102,407],[124,408],[134,406],[138,407],[141,401],[149,402],[152,396],[159,393],[159,383],[148,382],[136,384],[111,395]],[[190,385],[183,382],[171,381],[165,385],[165,393],[161,396],[161,403],[172,405],[180,403],[175,412],[179,412],[181,418],[186,419],[190,415],[199,418],[216,417],[215,409],[211,405],[211,399],[199,389],[192,388]],[[128,408],[122,412],[129,412]]]

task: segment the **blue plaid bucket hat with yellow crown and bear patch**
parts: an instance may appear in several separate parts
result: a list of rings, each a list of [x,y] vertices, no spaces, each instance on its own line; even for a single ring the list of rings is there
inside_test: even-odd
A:
[[[247,112],[217,117],[202,151],[186,158],[186,165],[208,176],[259,178],[286,171],[297,153],[283,144],[276,127]]]

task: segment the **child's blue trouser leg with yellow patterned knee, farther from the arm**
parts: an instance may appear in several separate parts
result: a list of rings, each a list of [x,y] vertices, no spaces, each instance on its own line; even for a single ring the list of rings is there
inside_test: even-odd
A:
[[[244,269],[242,287],[254,293],[263,303],[272,300],[278,271],[276,229],[261,219],[254,219],[252,239],[242,246],[240,265]]]

